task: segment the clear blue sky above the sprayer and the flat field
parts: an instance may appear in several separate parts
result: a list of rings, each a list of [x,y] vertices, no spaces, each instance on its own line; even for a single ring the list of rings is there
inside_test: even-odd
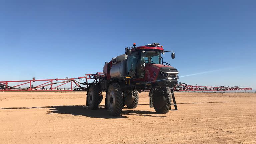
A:
[[[158,42],[191,85],[256,89],[256,1],[0,1],[0,80],[102,72]],[[206,73],[204,73],[206,72]]]

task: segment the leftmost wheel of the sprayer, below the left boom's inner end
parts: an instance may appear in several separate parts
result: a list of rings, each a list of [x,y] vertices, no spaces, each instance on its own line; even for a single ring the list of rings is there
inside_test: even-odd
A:
[[[100,104],[100,87],[92,85],[88,91],[88,107],[89,109],[96,110]]]

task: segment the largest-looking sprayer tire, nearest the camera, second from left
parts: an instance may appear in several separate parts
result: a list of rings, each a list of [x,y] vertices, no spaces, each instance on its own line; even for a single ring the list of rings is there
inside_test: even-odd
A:
[[[107,93],[107,108],[112,116],[119,116],[124,107],[123,91],[119,84],[109,85]]]

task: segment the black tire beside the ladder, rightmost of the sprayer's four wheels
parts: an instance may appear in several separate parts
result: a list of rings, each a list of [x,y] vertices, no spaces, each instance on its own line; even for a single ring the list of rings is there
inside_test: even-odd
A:
[[[169,112],[169,103],[171,103],[171,89],[163,88],[160,90],[155,90],[153,93],[153,106],[156,113],[166,114]],[[160,106],[159,106],[160,104]],[[163,105],[163,106],[161,106]]]

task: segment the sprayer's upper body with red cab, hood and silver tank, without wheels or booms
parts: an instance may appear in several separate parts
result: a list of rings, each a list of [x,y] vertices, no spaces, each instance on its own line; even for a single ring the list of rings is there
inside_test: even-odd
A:
[[[129,78],[130,87],[148,89],[172,87],[177,84],[179,73],[170,64],[162,61],[164,51],[159,43],[126,48],[125,54],[112,58],[104,66],[103,72],[108,80],[125,80]],[[174,52],[172,53],[174,58]]]

